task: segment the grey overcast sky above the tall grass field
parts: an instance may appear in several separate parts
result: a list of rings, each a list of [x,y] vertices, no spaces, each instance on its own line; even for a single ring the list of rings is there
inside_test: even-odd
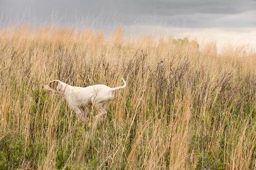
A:
[[[109,31],[121,23],[135,31],[163,28],[174,34],[256,30],[256,0],[0,0],[0,11],[2,25],[56,23]]]

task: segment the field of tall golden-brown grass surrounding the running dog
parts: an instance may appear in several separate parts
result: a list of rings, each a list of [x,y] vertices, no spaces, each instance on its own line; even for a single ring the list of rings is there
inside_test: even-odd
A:
[[[256,169],[256,55],[91,29],[0,31],[0,169]],[[115,92],[92,131],[53,79]]]

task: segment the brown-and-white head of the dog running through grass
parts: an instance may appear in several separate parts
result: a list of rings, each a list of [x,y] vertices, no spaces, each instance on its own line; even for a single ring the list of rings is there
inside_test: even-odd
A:
[[[65,83],[55,80],[51,81],[49,84],[43,86],[43,89],[46,89],[49,93],[63,94],[65,88]]]

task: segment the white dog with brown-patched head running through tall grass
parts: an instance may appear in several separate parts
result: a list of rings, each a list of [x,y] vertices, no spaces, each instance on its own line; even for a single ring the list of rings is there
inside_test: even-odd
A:
[[[96,84],[94,86],[87,87],[75,87],[59,80],[55,80],[51,81],[46,86],[43,86],[43,88],[47,89],[48,92],[63,95],[70,108],[76,112],[80,119],[85,121],[87,114],[86,107],[91,104],[99,109],[99,114],[97,114],[96,118],[106,115],[107,103],[114,97],[113,92],[117,89],[126,87],[125,80],[122,79],[122,81],[124,82],[124,86],[111,88],[104,84]]]

